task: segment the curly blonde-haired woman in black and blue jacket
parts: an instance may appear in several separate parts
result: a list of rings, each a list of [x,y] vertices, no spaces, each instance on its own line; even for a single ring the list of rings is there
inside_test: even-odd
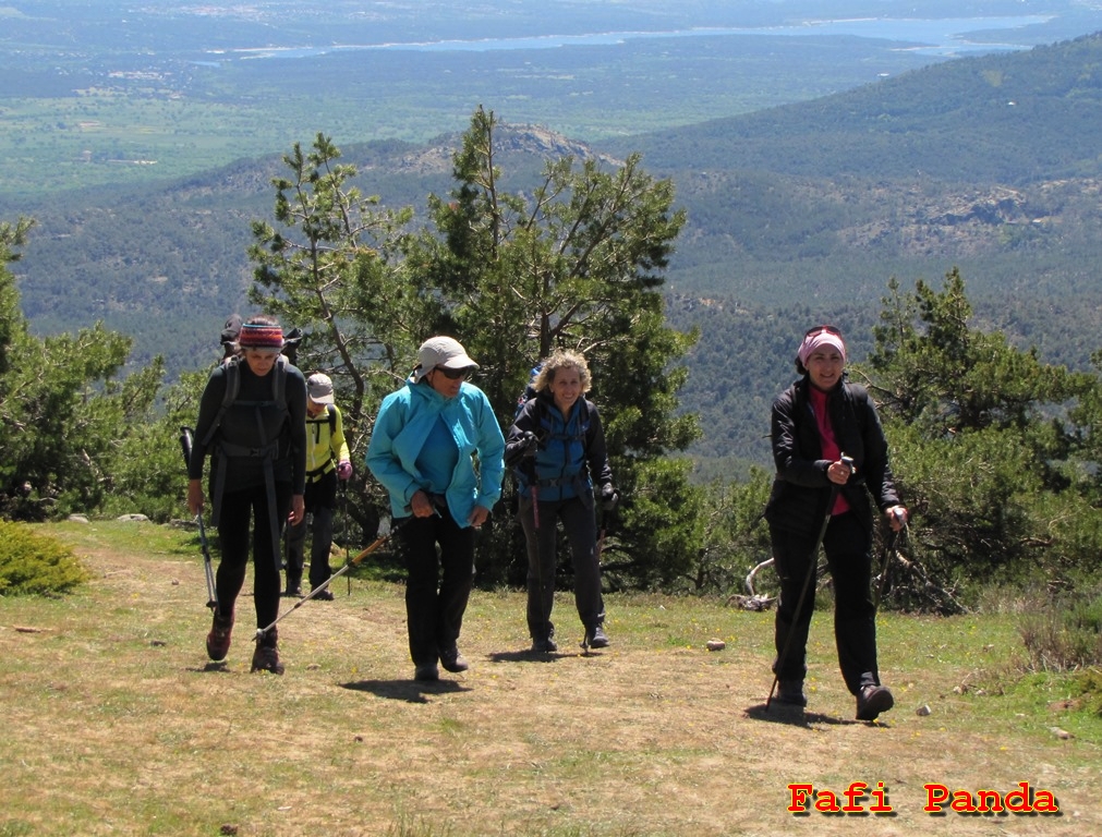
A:
[[[517,517],[528,551],[528,631],[532,651],[558,651],[554,604],[557,528],[562,521],[574,566],[574,604],[585,627],[584,648],[607,648],[601,595],[594,485],[607,511],[618,501],[601,416],[590,391],[590,368],[573,351],[555,351],[536,376],[529,399],[509,428],[506,463],[519,483]]]

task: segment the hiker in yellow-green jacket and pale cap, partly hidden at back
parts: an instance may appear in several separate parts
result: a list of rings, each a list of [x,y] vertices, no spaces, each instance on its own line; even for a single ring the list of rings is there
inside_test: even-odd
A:
[[[306,379],[306,491],[313,540],[310,546],[310,587],[316,589],[333,574],[333,514],[337,504],[337,481],[352,478],[352,461],[344,437],[344,420],[333,399],[333,381],[315,372]],[[287,588],[284,596],[302,595],[302,567],[306,547],[306,518],[288,528]],[[315,601],[332,601],[329,589],[314,595]]]

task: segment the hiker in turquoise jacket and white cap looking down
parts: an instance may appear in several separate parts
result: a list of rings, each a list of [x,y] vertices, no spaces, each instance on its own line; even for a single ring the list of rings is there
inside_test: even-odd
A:
[[[418,361],[404,387],[382,401],[367,467],[401,525],[413,676],[435,681],[437,660],[449,672],[468,667],[457,643],[474,584],[475,530],[501,496],[505,438],[489,399],[466,382],[478,365],[463,346],[432,337]]]

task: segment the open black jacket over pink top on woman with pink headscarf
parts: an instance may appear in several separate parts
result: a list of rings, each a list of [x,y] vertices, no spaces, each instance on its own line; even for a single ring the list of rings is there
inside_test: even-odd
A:
[[[773,458],[777,466],[765,517],[771,525],[813,532],[830,498],[830,460],[822,458],[819,427],[809,401],[811,382],[804,376],[773,402]],[[850,509],[873,526],[869,496],[880,511],[899,503],[888,446],[876,407],[864,387],[843,379],[827,395],[831,426],[842,452],[853,458],[854,475],[842,489]]]

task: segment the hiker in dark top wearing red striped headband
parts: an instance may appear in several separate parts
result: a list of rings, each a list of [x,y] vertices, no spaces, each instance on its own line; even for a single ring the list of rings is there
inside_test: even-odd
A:
[[[269,316],[246,320],[238,354],[207,379],[187,467],[187,507],[203,511],[203,459],[210,453],[208,482],[212,523],[222,561],[217,570],[218,610],[207,634],[207,654],[226,659],[234,627],[234,602],[245,583],[252,526],[253,602],[257,628],[276,620],[280,598],[280,532],[283,522],[303,518],[306,463],[306,381],[280,357],[283,333]],[[252,671],[283,673],[277,631],[263,634],[252,654]]]

